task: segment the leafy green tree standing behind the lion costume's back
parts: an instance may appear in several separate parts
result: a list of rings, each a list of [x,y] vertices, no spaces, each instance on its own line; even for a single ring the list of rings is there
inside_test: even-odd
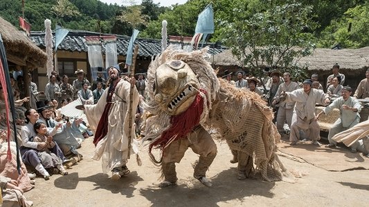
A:
[[[301,77],[296,59],[310,55],[318,26],[312,6],[296,1],[237,1],[233,12],[219,22],[220,34],[233,55],[260,75],[260,65],[281,68]],[[244,12],[246,10],[246,12]],[[228,16],[226,16],[228,15]]]

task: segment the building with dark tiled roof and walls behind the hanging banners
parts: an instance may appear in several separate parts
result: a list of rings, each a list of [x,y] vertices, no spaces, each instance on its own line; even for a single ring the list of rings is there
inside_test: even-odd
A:
[[[55,32],[53,32],[55,35]],[[89,66],[89,57],[87,52],[87,44],[85,37],[99,36],[98,32],[88,32],[82,30],[69,30],[69,33],[64,38],[62,43],[57,48],[57,62],[60,75],[68,75],[70,81],[76,79],[74,74],[77,68],[84,70],[87,73],[87,79],[91,81],[91,68]],[[112,34],[101,34],[111,36]],[[30,38],[36,43],[39,48],[45,49],[44,41],[45,32],[31,32]],[[127,48],[130,37],[124,35],[116,35],[118,63],[125,62],[127,56]],[[171,44],[171,39],[170,39]],[[137,38],[134,44],[138,44],[138,56],[136,59],[136,73],[147,72],[152,57],[161,53],[161,40],[159,39],[142,39]],[[173,41],[173,44],[179,44],[178,38]],[[206,44],[208,46],[208,44]],[[209,46],[211,55],[217,54],[225,50]],[[105,46],[102,43],[102,53],[105,54]],[[105,57],[103,57],[105,59]],[[39,88],[46,86],[48,79],[46,77],[46,68],[39,68]]]

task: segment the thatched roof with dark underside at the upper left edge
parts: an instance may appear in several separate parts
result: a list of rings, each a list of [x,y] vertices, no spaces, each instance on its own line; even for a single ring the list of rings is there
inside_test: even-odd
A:
[[[0,17],[0,33],[7,57],[17,59],[31,67],[44,67],[47,56],[26,35]]]

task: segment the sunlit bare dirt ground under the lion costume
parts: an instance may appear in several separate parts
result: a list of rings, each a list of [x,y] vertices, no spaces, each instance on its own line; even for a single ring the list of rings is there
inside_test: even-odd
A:
[[[34,206],[367,206],[369,203],[368,170],[332,172],[281,154],[285,167],[302,177],[275,183],[260,179],[239,181],[236,164],[229,162],[228,146],[226,143],[217,146],[218,155],[207,173],[213,187],[203,186],[192,177],[191,164],[197,155],[189,149],[177,164],[179,185],[161,189],[152,185],[158,182],[160,174],[145,152],[141,152],[142,166],[137,166],[134,159],[129,161],[131,173],[127,177],[118,181],[108,179],[102,173],[100,161],[90,158],[94,146],[89,138],[79,150],[84,159],[69,169],[69,175],[53,175],[48,181],[37,177],[35,188],[25,195]],[[327,157],[317,154],[316,159]]]

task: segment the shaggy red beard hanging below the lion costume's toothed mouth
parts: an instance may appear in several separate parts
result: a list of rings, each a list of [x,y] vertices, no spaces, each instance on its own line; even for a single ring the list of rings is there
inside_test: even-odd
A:
[[[201,92],[206,93],[205,90],[201,90]],[[204,98],[201,97],[199,93],[197,93],[195,101],[191,104],[191,106],[181,113],[180,115],[175,115],[170,117],[170,128],[165,130],[159,139],[156,139],[149,146],[149,152],[151,152],[153,147],[163,149],[168,144],[170,139],[174,139],[176,141],[181,139],[182,137],[186,137],[188,133],[195,128],[195,126],[199,125],[201,114],[204,110]]]

